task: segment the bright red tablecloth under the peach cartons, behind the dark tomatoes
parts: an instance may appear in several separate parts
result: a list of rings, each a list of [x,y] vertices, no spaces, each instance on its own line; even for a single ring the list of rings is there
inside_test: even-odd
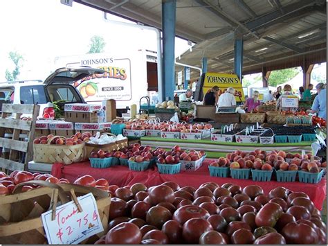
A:
[[[326,178],[322,178],[318,184],[307,184],[300,182],[254,182],[251,179],[233,179],[233,178],[221,178],[211,177],[208,171],[208,164],[210,159],[204,161],[203,166],[197,171],[181,171],[176,175],[164,175],[158,173],[155,167],[145,170],[144,172],[135,172],[129,170],[126,166],[113,166],[111,168],[91,168],[89,162],[77,163],[71,165],[53,164],[52,175],[57,178],[64,177],[69,179],[70,182],[74,182],[75,179],[83,175],[91,175],[95,179],[101,177],[107,179],[109,184],[116,184],[118,186],[126,186],[135,183],[143,183],[146,186],[154,186],[162,184],[163,182],[172,181],[176,182],[180,186],[193,186],[199,187],[205,182],[216,182],[221,185],[224,183],[238,184],[239,186],[248,186],[250,184],[257,184],[261,186],[264,193],[268,194],[271,189],[277,186],[284,186],[291,191],[302,191],[307,193],[315,206],[318,209],[322,209],[322,203],[326,197]]]

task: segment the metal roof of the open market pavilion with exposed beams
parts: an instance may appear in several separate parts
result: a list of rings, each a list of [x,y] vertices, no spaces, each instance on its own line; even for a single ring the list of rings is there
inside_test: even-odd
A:
[[[161,29],[161,0],[75,1]],[[307,67],[326,61],[326,25],[325,0],[180,0],[176,35],[196,45],[176,61],[201,67],[207,58],[208,71],[230,73],[238,32],[244,39],[243,74]]]

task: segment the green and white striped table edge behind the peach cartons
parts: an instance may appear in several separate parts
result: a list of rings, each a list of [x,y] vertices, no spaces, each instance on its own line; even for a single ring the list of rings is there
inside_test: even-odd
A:
[[[273,144],[260,144],[260,143],[223,143],[215,142],[210,139],[204,140],[183,140],[183,139],[163,139],[161,137],[142,137],[141,145],[151,146],[156,148],[171,149],[173,146],[179,145],[182,149],[204,150],[207,157],[218,158],[225,157],[227,153],[235,150],[253,151],[256,148],[270,152],[271,150],[283,150],[285,152],[311,152],[311,141],[302,141],[300,143],[273,143]]]

